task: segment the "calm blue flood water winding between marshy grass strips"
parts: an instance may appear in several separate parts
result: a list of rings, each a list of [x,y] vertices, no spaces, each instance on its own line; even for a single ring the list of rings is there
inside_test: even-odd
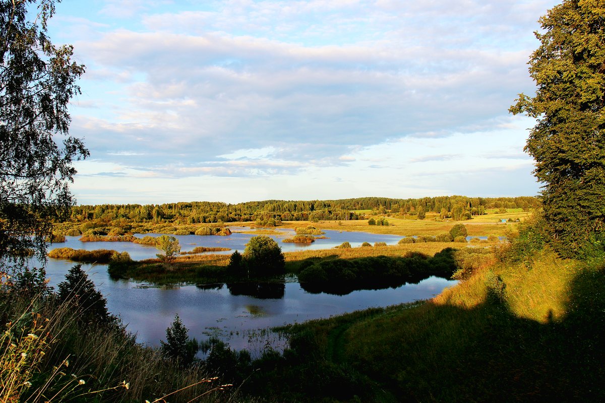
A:
[[[234,228],[238,230],[238,228]],[[289,231],[284,236],[272,236],[283,251],[299,250],[300,248],[326,249],[348,241],[353,247],[362,242],[397,243],[401,236],[377,235],[368,233],[353,233],[325,231],[330,239],[318,239],[311,245],[293,245],[283,243],[286,237],[292,237]],[[159,236],[159,234],[152,234]],[[232,250],[244,250],[244,244],[252,234],[237,234],[231,236],[176,236],[181,243],[181,250],[192,250],[196,246],[227,247]],[[113,249],[127,251],[132,259],[155,257],[158,252],[154,247],[139,245],[131,242],[80,242],[79,237],[67,237],[65,243],[55,243],[50,249],[70,247],[74,249]],[[231,251],[225,253],[232,253]],[[65,273],[73,266],[67,260],[48,259],[47,276],[51,285],[64,280]],[[189,336],[205,340],[210,336],[218,336],[235,348],[249,348],[252,353],[260,351],[263,344],[259,339],[250,338],[258,334],[256,329],[270,326],[280,326],[287,323],[300,323],[309,319],[326,318],[344,312],[370,308],[372,306],[389,306],[433,297],[446,286],[453,285],[451,280],[430,277],[418,284],[407,284],[398,288],[381,290],[354,291],[347,295],[310,294],[299,286],[296,279],[286,282],[281,298],[257,298],[249,295],[232,295],[229,285],[217,285],[213,289],[200,289],[197,286],[175,286],[174,288],[154,288],[145,283],[128,280],[112,280],[107,274],[105,265],[83,264],[97,289],[107,298],[109,310],[120,315],[128,329],[137,333],[137,340],[159,345],[165,339],[166,328],[170,326],[174,315],[178,314],[189,329]],[[278,286],[279,287],[279,286]],[[234,294],[241,294],[235,292]],[[273,295],[281,296],[281,289]],[[272,294],[269,294],[272,295]],[[280,341],[267,340],[272,344]],[[249,344],[252,340],[252,344]]]

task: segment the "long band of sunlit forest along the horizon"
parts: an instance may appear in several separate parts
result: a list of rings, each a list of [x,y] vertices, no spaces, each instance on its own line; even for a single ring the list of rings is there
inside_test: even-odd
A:
[[[463,214],[480,215],[493,208],[537,208],[540,199],[529,196],[516,198],[470,198],[438,196],[420,199],[355,198],[340,200],[284,201],[267,200],[238,204],[223,202],[178,202],[166,204],[100,204],[71,208],[71,219],[88,221],[128,219],[136,222],[174,222],[200,224],[211,222],[259,221],[270,225],[276,221],[321,221],[364,219],[362,210],[378,214],[425,214],[462,219]],[[470,217],[468,217],[470,218]]]

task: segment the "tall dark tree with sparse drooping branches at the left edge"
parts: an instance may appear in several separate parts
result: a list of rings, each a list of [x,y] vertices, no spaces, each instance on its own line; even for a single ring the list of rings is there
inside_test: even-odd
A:
[[[37,13],[31,11],[36,10]],[[53,219],[69,217],[72,162],[88,156],[68,135],[67,105],[84,66],[47,36],[54,0],[0,0],[0,267],[46,261]],[[64,137],[62,144],[56,140]],[[32,236],[33,235],[33,236]]]

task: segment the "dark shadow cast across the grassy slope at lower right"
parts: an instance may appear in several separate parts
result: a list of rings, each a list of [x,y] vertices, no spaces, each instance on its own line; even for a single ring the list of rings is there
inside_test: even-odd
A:
[[[473,309],[427,303],[350,324],[345,363],[405,401],[605,401],[605,272],[569,286],[546,323],[497,295]]]

